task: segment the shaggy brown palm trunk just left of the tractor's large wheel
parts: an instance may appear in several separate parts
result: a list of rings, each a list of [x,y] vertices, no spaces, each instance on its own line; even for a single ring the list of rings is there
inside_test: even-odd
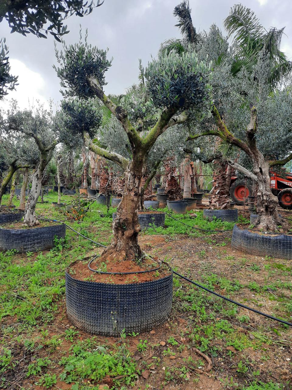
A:
[[[221,160],[214,160],[213,189],[210,198],[211,209],[229,210],[230,197],[227,189],[226,163]]]

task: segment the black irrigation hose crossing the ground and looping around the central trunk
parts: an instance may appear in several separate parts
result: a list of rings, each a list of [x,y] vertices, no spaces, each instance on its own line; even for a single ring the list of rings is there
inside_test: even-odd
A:
[[[167,214],[167,215],[168,215],[168,214]],[[172,217],[172,218],[173,218],[173,217]],[[49,219],[49,218],[39,218],[39,219],[42,219],[42,220],[45,220],[45,221],[53,221],[53,222],[63,223],[63,222],[61,222],[61,221],[52,220],[52,219]],[[174,219],[175,219],[175,218],[174,218]],[[180,221],[179,221],[179,222],[180,222]],[[66,223],[64,223],[64,225],[66,225]],[[107,248],[107,246],[102,245],[102,244],[100,244],[100,243],[97,243],[97,242],[91,240],[90,238],[88,238],[88,237],[84,236],[83,234],[77,232],[77,230],[74,230],[72,227],[70,227],[70,226],[68,226],[68,225],[66,225],[66,226],[69,227],[69,229],[73,230],[73,232],[79,234],[79,236],[81,236],[81,237],[87,239],[88,241],[91,241],[91,242],[93,242],[93,243],[96,244],[96,245],[102,246],[103,248]],[[187,225],[187,226],[189,226],[189,225]],[[217,232],[218,230],[215,230],[215,231]],[[224,230],[223,230],[223,231],[224,231]],[[94,260],[94,258],[93,258],[93,259],[90,261],[90,263],[88,264],[88,268],[89,268],[89,266],[90,266],[90,264],[91,264],[91,262],[92,262],[93,260]],[[167,264],[167,263],[165,263],[165,264]],[[167,264],[167,266],[169,266],[169,265]],[[160,268],[161,268],[161,266],[160,266],[159,268],[157,268],[157,269],[151,269],[150,271],[146,271],[146,272],[156,271],[156,270],[158,270],[158,269],[160,269]],[[284,321],[283,319],[280,319],[280,318],[277,318],[277,317],[270,316],[269,314],[260,312],[259,310],[253,309],[252,307],[248,307],[248,306],[246,306],[246,305],[243,305],[242,303],[239,303],[239,302],[236,302],[236,301],[234,301],[234,300],[232,300],[232,299],[230,299],[230,298],[227,298],[227,297],[224,296],[224,295],[215,293],[215,291],[209,290],[207,287],[204,287],[204,286],[202,286],[201,284],[198,284],[198,283],[194,282],[193,280],[191,280],[191,279],[189,279],[189,278],[187,278],[187,277],[185,277],[185,276],[179,274],[178,272],[174,271],[171,267],[169,267],[169,268],[171,269],[171,271],[172,271],[175,275],[179,276],[179,277],[182,278],[182,279],[185,279],[187,282],[190,282],[190,283],[194,284],[195,286],[197,286],[197,287],[199,287],[199,288],[201,288],[201,289],[203,289],[203,290],[205,290],[205,291],[208,291],[208,293],[214,294],[214,295],[218,296],[219,298],[224,299],[225,301],[234,303],[234,305],[243,307],[243,308],[245,308],[245,309],[247,309],[247,310],[250,310],[250,311],[252,311],[252,312],[254,312],[254,313],[260,314],[261,316],[264,316],[264,317],[273,319],[274,321],[278,321],[278,322],[280,322],[280,323],[282,323],[282,324],[285,324],[285,325],[288,325],[288,326],[292,326],[292,323],[290,323],[290,322],[288,322],[288,321]],[[99,271],[95,271],[94,269],[91,269],[91,268],[89,268],[89,269],[90,269],[91,271],[93,271],[93,272],[99,272]],[[141,272],[141,271],[140,271],[140,272]],[[145,271],[143,271],[143,272],[145,272]],[[99,272],[99,273],[106,273],[106,272]],[[133,272],[133,273],[139,273],[139,272]],[[119,274],[119,273],[117,273],[117,274]],[[125,273],[123,273],[123,274],[125,274]]]

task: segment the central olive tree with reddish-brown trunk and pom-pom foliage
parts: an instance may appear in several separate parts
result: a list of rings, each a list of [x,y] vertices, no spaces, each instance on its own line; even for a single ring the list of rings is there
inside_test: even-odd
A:
[[[209,67],[199,62],[193,52],[181,56],[175,52],[168,56],[159,55],[148,63],[146,69],[141,66],[148,99],[142,103],[141,116],[135,118],[122,102],[116,104],[104,93],[105,72],[111,66],[107,51],[80,41],[70,46],[63,43],[63,51],[57,52],[56,56],[56,71],[65,89],[64,96],[98,99],[123,129],[129,158],[92,142],[86,131],[83,131],[83,137],[91,151],[114,161],[125,172],[123,197],[113,223],[114,242],[105,254],[113,259],[140,258],[137,210],[141,204],[143,171],[149,153],[168,128],[186,120],[186,111],[201,110],[205,105],[210,90]],[[157,110],[157,119],[148,125],[146,114],[151,105]]]

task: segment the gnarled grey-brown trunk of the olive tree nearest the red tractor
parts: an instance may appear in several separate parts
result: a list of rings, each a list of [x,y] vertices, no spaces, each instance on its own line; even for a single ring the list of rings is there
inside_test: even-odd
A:
[[[257,214],[259,217],[254,222],[258,229],[275,231],[278,226],[284,229],[286,224],[278,215],[278,198],[273,195],[270,187],[269,164],[264,160],[260,152],[253,158],[253,173],[257,176]]]

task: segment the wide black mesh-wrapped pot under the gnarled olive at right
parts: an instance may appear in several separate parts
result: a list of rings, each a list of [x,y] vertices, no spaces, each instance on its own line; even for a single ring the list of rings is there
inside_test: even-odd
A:
[[[250,255],[271,256],[277,259],[292,259],[292,235],[267,236],[239,229],[234,225],[231,239],[232,248]]]

